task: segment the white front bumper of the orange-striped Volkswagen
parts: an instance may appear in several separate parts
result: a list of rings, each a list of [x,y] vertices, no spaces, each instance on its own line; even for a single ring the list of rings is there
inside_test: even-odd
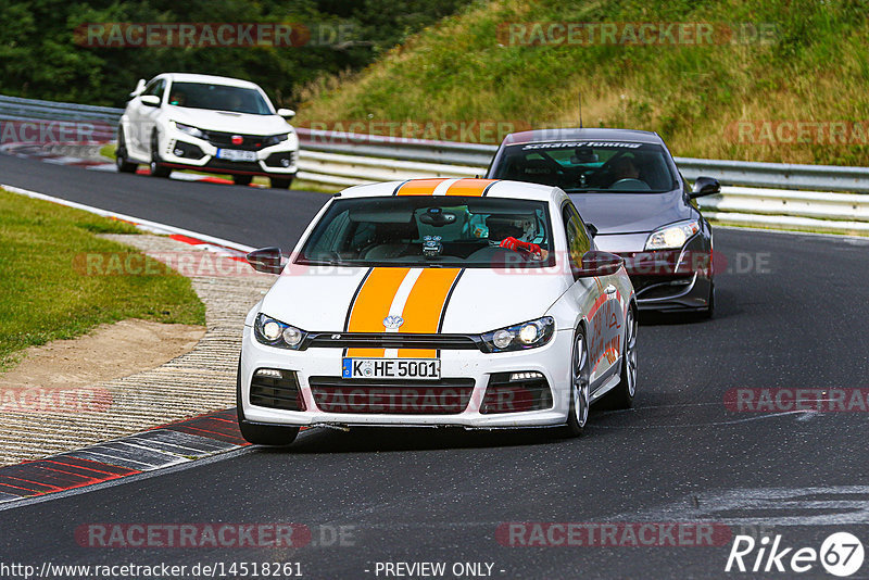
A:
[[[341,349],[314,348],[291,351],[261,344],[251,327],[244,327],[241,350],[240,402],[244,418],[255,424],[287,426],[457,426],[466,428],[539,427],[563,425],[569,407],[571,332],[557,331],[545,346],[522,352],[488,354],[471,350],[443,350],[440,353],[441,378],[473,381],[465,406],[450,414],[329,413],[317,406],[312,377],[341,376]],[[299,394],[305,411],[285,411],[251,404],[253,373],[261,368],[295,371]],[[541,411],[481,413],[487,387],[495,374],[540,373],[552,391],[552,405]],[[400,383],[401,381],[395,381]],[[438,388],[440,381],[430,381]],[[455,381],[453,381],[455,382]],[[352,409],[351,409],[352,411]]]

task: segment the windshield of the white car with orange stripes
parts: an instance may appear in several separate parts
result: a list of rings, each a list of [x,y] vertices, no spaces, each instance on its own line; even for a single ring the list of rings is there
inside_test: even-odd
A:
[[[314,228],[297,263],[547,266],[554,253],[546,207],[537,201],[441,196],[338,200]],[[522,242],[519,245],[537,244],[540,252],[502,248],[507,238]]]

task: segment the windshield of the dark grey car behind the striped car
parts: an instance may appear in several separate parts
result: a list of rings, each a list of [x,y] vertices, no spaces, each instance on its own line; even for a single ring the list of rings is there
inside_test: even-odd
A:
[[[677,187],[660,146],[622,141],[507,146],[490,177],[555,186],[568,193],[660,193]]]

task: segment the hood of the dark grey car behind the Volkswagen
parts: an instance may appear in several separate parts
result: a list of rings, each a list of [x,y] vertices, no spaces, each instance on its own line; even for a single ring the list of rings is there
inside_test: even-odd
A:
[[[689,219],[691,209],[680,190],[667,193],[570,193],[587,224],[599,234],[648,232]]]

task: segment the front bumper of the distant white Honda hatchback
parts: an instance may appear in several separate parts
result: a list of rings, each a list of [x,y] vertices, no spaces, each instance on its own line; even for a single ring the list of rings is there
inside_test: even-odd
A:
[[[206,139],[169,128],[161,135],[160,157],[169,167],[207,173],[293,177],[298,172],[299,138],[294,133],[286,141],[257,148],[253,151],[255,161],[218,159],[218,149],[232,147],[216,146]]]

